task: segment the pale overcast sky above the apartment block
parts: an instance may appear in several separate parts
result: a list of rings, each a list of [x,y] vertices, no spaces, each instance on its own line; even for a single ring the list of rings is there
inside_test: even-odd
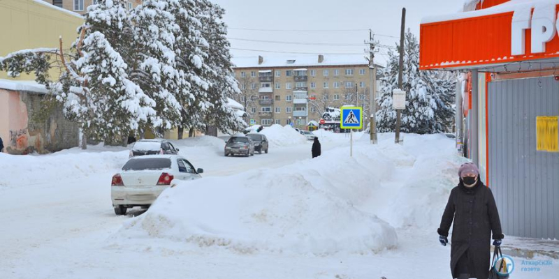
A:
[[[400,15],[407,9],[406,29],[419,35],[421,18],[427,15],[456,13],[464,0],[212,0],[226,10],[233,56],[290,55],[273,52],[324,52],[361,54],[368,29],[376,33],[382,45],[393,46],[400,36]],[[279,30],[351,30],[351,31],[254,31]],[[356,30],[356,31],[354,31]],[[236,38],[236,39],[235,39]],[[268,40],[323,45],[293,45],[247,40]],[[377,57],[386,59],[387,48]]]

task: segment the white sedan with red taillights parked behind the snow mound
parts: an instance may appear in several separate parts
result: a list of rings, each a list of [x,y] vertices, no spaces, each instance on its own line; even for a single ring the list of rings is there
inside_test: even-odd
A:
[[[112,176],[110,196],[117,215],[126,214],[134,206],[148,208],[173,179],[200,179],[203,169],[176,155],[147,155],[133,157]]]

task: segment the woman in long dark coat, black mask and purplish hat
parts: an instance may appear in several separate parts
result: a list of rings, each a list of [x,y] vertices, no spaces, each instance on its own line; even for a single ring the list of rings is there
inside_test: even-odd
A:
[[[451,190],[440,228],[437,229],[439,240],[447,246],[447,236],[453,224],[450,252],[452,278],[486,279],[491,261],[491,232],[495,246],[500,246],[504,237],[499,213],[493,193],[481,182],[476,165],[465,163],[460,166],[458,176],[460,183]]]

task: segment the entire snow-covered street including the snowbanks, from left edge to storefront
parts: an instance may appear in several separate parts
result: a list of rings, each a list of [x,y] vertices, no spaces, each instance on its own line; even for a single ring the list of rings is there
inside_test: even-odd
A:
[[[349,158],[347,135],[318,131],[311,159],[310,142],[269,130],[270,153],[250,158],[215,137],[174,141],[204,178],[126,216],[110,179],[128,149],[0,154],[0,278],[450,277],[436,229],[465,160],[453,140],[356,133]],[[518,266],[514,278],[559,273]]]

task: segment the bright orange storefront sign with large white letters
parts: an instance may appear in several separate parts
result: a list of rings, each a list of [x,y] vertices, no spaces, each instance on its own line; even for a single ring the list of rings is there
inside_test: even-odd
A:
[[[509,1],[424,20],[419,66],[473,68],[559,57],[558,13],[557,1]]]

